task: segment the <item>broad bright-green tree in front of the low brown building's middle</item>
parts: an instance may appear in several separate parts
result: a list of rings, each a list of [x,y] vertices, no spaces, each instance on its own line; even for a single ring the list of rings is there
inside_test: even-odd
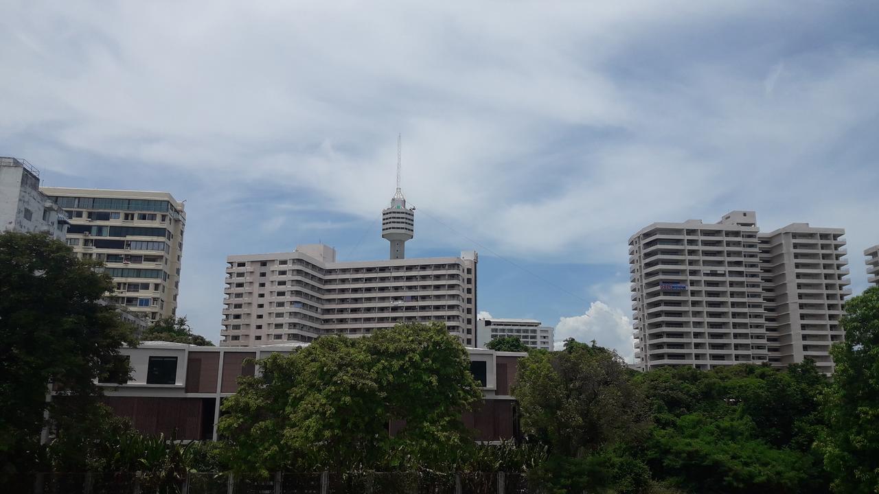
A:
[[[461,411],[482,393],[444,324],[317,338],[258,366],[219,425],[241,469],[442,468],[473,447]]]

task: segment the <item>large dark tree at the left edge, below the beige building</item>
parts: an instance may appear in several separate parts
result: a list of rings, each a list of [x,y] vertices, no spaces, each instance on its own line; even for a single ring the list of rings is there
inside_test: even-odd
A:
[[[122,345],[133,329],[99,303],[113,280],[64,243],[41,234],[0,234],[0,460],[4,471],[40,435],[48,410],[57,423],[88,413],[95,379],[125,382]],[[47,403],[47,384],[61,386]],[[2,476],[2,473],[0,473]]]

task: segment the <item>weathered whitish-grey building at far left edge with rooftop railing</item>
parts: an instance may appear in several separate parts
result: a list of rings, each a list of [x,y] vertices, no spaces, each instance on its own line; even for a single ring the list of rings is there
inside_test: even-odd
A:
[[[68,225],[62,209],[40,193],[40,171],[24,159],[0,156],[0,231],[64,240]]]

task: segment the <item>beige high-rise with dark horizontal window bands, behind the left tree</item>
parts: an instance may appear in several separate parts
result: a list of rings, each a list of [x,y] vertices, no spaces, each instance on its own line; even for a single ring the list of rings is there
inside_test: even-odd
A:
[[[107,300],[147,320],[175,316],[184,205],[170,193],[42,187],[67,211],[67,243],[105,263],[116,284]]]

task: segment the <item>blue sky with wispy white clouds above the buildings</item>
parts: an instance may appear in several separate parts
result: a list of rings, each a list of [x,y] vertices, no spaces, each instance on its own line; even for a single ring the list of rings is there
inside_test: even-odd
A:
[[[631,359],[628,237],[757,211],[879,243],[870,2],[0,1],[0,156],[186,200],[178,314],[226,256],[479,251],[478,309]]]

